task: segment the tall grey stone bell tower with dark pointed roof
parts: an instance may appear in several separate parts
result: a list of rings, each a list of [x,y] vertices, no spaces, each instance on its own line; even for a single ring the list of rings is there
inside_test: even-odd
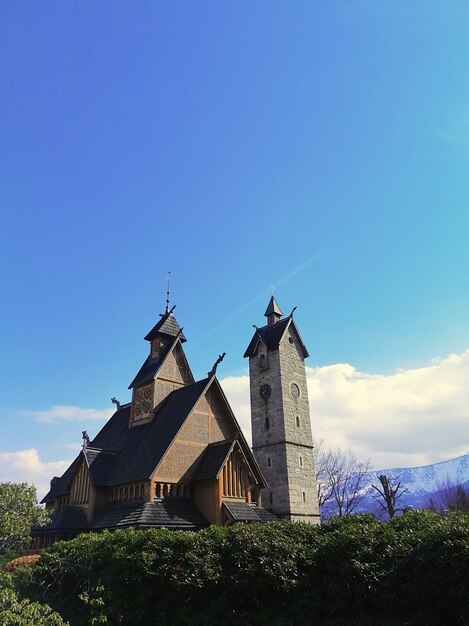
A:
[[[294,311],[294,310],[293,310]],[[292,313],[272,296],[244,354],[249,357],[252,449],[268,489],[262,505],[275,515],[319,524],[313,439],[304,359],[308,351]]]

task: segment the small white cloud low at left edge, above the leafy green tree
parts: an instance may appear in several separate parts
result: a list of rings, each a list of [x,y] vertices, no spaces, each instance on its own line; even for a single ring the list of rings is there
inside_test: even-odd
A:
[[[44,463],[35,448],[0,452],[0,481],[34,484],[41,500],[49,491],[50,479],[61,476],[70,463],[70,460]]]

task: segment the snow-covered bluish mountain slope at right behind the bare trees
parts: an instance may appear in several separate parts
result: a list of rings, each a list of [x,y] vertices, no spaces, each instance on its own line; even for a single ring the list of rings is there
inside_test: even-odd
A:
[[[377,493],[372,485],[380,486],[378,479],[380,474],[398,479],[402,486],[407,488],[408,491],[399,500],[400,507],[425,508],[431,495],[446,485],[463,485],[469,488],[469,453],[450,461],[423,467],[393,467],[369,472],[366,497],[360,504],[360,512],[378,511],[379,506],[371,496]]]

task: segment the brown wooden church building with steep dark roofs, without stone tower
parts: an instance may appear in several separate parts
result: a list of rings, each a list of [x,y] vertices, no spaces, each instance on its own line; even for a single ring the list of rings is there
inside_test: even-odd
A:
[[[166,308],[146,335],[149,354],[119,405],[42,500],[51,522],[34,548],[81,532],[125,527],[200,529],[276,519],[266,480],[216,377],[195,381],[186,341]],[[220,359],[219,359],[220,360]],[[218,362],[217,362],[218,363]]]

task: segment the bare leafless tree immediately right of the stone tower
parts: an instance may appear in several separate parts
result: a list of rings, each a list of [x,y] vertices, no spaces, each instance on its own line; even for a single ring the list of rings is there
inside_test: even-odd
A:
[[[315,463],[321,516],[353,513],[365,495],[370,462],[358,461],[350,449],[328,449],[320,441],[315,446]]]

